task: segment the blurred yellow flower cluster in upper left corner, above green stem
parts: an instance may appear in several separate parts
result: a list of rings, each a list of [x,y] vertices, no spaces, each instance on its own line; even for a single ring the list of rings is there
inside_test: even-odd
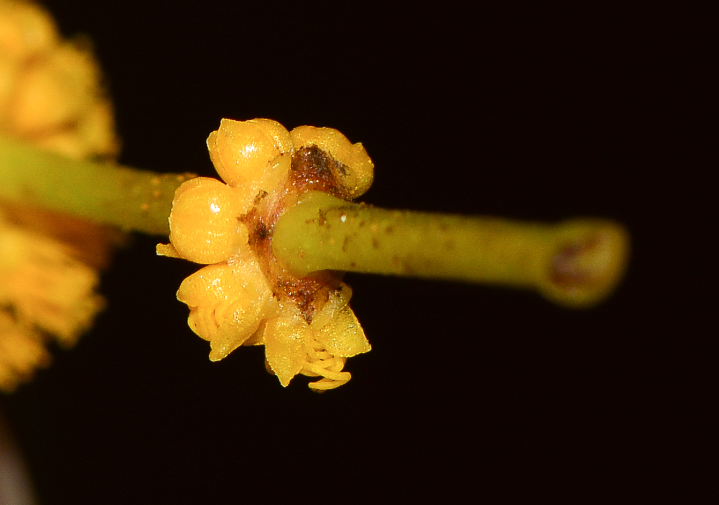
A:
[[[39,6],[0,0],[0,134],[69,158],[116,155],[100,81],[88,40],[62,40]]]

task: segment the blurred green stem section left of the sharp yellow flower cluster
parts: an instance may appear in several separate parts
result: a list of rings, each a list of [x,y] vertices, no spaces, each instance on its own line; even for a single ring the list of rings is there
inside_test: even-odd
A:
[[[0,200],[42,206],[126,231],[168,235],[175,189],[191,177],[69,160],[0,136]]]

